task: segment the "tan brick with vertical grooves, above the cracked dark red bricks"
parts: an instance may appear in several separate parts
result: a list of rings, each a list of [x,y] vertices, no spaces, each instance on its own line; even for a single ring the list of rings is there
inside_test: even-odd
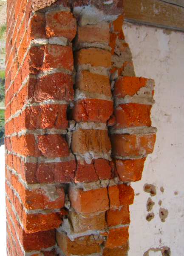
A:
[[[75,154],[85,154],[88,151],[107,154],[111,149],[108,131],[82,129],[74,131],[71,148]]]

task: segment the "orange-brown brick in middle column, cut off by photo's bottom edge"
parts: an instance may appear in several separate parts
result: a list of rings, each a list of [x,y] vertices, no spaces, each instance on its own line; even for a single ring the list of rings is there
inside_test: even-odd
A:
[[[56,232],[59,247],[65,255],[89,255],[100,253],[103,240],[95,236],[82,236],[71,241],[64,233]]]

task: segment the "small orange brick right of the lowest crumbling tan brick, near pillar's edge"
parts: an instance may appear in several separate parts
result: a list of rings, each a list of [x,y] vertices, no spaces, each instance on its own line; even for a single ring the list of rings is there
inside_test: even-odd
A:
[[[130,213],[128,205],[123,205],[120,210],[109,209],[106,214],[108,227],[125,225],[130,223]]]

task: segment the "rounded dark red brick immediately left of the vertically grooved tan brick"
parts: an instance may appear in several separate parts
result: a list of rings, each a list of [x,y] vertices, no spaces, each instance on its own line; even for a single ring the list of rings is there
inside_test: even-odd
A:
[[[59,134],[38,136],[38,148],[45,157],[68,157],[68,144]]]

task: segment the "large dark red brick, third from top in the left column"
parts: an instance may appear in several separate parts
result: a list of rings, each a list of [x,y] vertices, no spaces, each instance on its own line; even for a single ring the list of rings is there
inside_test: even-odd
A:
[[[71,75],[54,73],[40,77],[35,86],[34,99],[36,102],[47,99],[73,100],[74,89]]]

